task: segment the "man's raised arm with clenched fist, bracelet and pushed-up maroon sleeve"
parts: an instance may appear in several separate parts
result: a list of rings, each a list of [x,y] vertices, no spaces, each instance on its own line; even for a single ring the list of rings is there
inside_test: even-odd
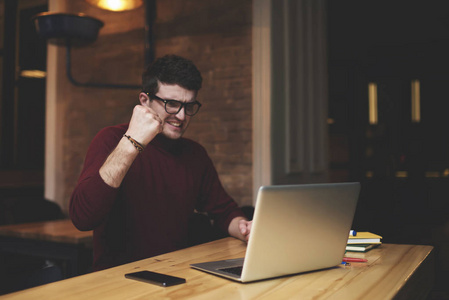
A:
[[[137,105],[125,134],[146,146],[161,130],[159,116],[149,107]],[[70,218],[80,230],[92,230],[107,217],[118,187],[139,155],[138,149],[126,137],[111,138],[110,134],[92,142],[70,199]],[[112,140],[118,143],[110,144]]]

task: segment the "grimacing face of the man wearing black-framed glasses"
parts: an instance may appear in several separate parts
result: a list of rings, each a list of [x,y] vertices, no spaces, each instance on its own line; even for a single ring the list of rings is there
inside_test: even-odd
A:
[[[180,102],[194,102],[196,93],[186,90],[179,85],[159,83],[159,91],[156,96],[164,100],[177,100]],[[189,126],[191,116],[186,115],[184,107],[177,114],[169,114],[165,111],[165,104],[160,100],[145,101],[143,105],[154,110],[163,121],[162,135],[169,139],[179,139]]]

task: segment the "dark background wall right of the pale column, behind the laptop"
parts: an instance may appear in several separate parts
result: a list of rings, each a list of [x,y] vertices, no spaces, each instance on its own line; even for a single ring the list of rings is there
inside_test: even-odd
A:
[[[328,1],[328,17],[333,179],[362,182],[358,230],[434,245],[437,287],[447,290],[449,4]],[[410,117],[415,79],[419,123]],[[378,86],[377,125],[368,122],[369,82]]]

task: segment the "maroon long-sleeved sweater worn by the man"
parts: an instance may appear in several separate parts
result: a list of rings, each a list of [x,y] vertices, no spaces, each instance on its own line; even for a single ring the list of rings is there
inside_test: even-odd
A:
[[[233,218],[243,216],[206,150],[185,138],[158,135],[137,156],[119,188],[107,185],[99,169],[127,127],[97,134],[70,200],[73,224],[94,230],[94,270],[185,247],[194,209],[207,212],[224,232]]]

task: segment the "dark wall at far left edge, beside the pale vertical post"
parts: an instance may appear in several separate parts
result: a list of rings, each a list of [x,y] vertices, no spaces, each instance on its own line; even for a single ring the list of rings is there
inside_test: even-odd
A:
[[[45,78],[23,70],[45,70],[46,42],[33,15],[45,1],[0,2],[0,201],[43,195]]]

